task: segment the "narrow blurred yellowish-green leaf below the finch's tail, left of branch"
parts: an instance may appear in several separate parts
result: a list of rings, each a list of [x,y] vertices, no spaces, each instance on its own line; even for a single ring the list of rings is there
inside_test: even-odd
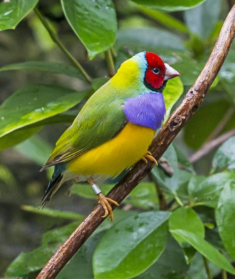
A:
[[[38,207],[29,206],[29,205],[22,205],[21,208],[25,211],[40,214],[43,216],[54,217],[54,218],[63,218],[63,219],[68,219],[68,220],[70,220],[70,219],[79,220],[79,222],[81,222],[85,217],[81,214],[74,213],[71,211],[60,211],[60,210],[49,209],[49,208],[38,209]]]

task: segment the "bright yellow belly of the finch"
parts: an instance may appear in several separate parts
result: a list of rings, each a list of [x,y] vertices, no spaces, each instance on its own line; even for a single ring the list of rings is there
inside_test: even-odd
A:
[[[85,176],[117,176],[144,156],[155,130],[127,123],[112,140],[68,161],[68,170]]]

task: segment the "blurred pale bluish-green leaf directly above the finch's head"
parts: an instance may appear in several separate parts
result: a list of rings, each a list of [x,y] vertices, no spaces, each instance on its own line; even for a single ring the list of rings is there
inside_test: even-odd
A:
[[[174,44],[172,44],[174,42]],[[131,47],[133,52],[142,50],[158,52],[158,49],[184,50],[179,36],[156,28],[119,30],[116,36],[116,47]]]

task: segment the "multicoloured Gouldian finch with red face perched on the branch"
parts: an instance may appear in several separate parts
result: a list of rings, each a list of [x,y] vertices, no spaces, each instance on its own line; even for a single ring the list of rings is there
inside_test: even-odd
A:
[[[179,75],[151,52],[139,52],[124,61],[56,142],[41,169],[54,165],[41,206],[65,181],[88,181],[103,206],[103,217],[109,215],[112,220],[109,202],[118,204],[102,194],[95,180],[116,177],[140,159],[156,162],[148,149],[165,116],[162,91],[167,80]]]

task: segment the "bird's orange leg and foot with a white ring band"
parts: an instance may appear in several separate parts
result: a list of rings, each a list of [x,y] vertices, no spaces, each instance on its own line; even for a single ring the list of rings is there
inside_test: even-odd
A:
[[[112,222],[112,219],[114,217],[114,213],[112,212],[112,207],[110,206],[109,202],[112,204],[115,204],[116,206],[119,206],[117,202],[115,202],[113,199],[110,199],[109,197],[105,197],[103,193],[101,193],[101,190],[98,185],[93,181],[92,178],[88,178],[87,181],[91,185],[91,189],[93,192],[98,195],[98,202],[103,206],[103,209],[105,211],[105,215],[103,215],[103,218],[106,218],[109,215],[110,221]]]

